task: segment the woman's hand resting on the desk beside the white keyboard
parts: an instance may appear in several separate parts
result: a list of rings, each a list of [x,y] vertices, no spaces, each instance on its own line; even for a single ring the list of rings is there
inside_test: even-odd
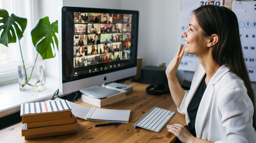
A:
[[[182,143],[190,143],[195,138],[187,127],[178,123],[167,125],[167,131],[173,133]]]

